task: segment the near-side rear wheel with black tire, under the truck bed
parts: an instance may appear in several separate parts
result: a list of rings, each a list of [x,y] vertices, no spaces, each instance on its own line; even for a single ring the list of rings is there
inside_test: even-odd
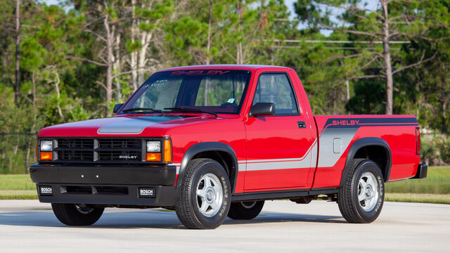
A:
[[[385,182],[375,162],[355,159],[338,192],[338,205],[350,223],[371,223],[380,215],[385,198]]]

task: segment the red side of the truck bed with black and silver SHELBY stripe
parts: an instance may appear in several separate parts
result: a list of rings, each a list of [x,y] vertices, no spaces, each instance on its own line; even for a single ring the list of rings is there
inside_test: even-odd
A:
[[[349,148],[366,136],[384,140],[392,152],[388,181],[416,175],[416,128],[413,115],[316,115],[319,155],[312,188],[339,186]]]

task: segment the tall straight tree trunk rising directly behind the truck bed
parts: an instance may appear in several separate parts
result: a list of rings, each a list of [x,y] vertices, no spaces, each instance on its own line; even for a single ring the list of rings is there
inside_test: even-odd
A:
[[[386,73],[386,111],[387,115],[392,115],[392,91],[394,82],[392,79],[391,51],[389,45],[389,20],[387,18],[387,1],[380,0],[383,9],[383,60],[385,61]]]

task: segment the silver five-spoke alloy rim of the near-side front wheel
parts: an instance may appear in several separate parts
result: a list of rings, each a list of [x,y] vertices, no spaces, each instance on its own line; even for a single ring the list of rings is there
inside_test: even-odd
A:
[[[197,185],[197,207],[201,214],[212,217],[219,212],[224,200],[219,178],[212,173],[202,176]]]

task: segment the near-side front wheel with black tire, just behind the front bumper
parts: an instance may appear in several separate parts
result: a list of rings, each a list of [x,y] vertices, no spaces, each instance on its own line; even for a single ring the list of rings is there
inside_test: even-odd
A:
[[[175,211],[186,228],[211,229],[224,222],[230,208],[231,186],[224,168],[211,159],[188,163]]]

